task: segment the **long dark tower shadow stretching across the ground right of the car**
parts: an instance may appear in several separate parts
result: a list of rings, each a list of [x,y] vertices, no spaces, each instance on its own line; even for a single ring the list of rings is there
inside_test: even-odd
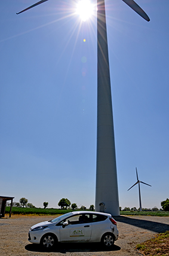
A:
[[[158,223],[152,220],[151,221],[139,220],[139,219],[134,219],[134,218],[125,217],[125,216],[115,217],[115,220],[121,223],[126,223],[128,225],[134,225],[136,227],[145,228],[147,230],[154,231],[156,233],[162,233],[169,230],[168,224]]]

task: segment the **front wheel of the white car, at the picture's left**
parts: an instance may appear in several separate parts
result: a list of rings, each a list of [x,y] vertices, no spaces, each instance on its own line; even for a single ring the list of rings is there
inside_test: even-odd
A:
[[[41,238],[41,246],[47,250],[53,249],[56,246],[57,237],[53,233],[44,234]]]

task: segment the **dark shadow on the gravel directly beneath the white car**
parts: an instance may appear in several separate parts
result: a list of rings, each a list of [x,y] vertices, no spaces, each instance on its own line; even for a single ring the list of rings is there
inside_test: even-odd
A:
[[[48,252],[48,250],[42,248],[40,245],[30,243],[24,247],[30,252]],[[50,252],[60,252],[66,254],[67,252],[104,252],[104,251],[119,251],[121,247],[113,245],[110,250],[103,249],[100,243],[57,243],[56,248],[50,250]]]

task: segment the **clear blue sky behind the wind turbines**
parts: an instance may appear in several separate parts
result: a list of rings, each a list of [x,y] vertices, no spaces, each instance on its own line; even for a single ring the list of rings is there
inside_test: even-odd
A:
[[[1,196],[58,208],[94,204],[96,17],[77,1],[0,2]],[[121,0],[106,1],[119,205],[160,208],[169,197],[168,0],[137,0],[146,22]],[[96,4],[96,2],[94,2]],[[86,40],[84,42],[84,39]]]

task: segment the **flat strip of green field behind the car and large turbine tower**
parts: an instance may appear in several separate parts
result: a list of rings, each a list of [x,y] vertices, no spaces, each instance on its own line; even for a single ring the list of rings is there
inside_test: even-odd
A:
[[[79,210],[81,211],[81,210]],[[66,214],[67,212],[72,212],[72,209],[54,209],[54,208],[20,208],[20,207],[13,207],[12,214],[34,214],[34,215],[57,215],[57,214]],[[6,207],[5,214],[10,213],[10,206]],[[150,215],[150,216],[169,216],[169,212],[133,212],[133,211],[121,211],[121,215]]]

